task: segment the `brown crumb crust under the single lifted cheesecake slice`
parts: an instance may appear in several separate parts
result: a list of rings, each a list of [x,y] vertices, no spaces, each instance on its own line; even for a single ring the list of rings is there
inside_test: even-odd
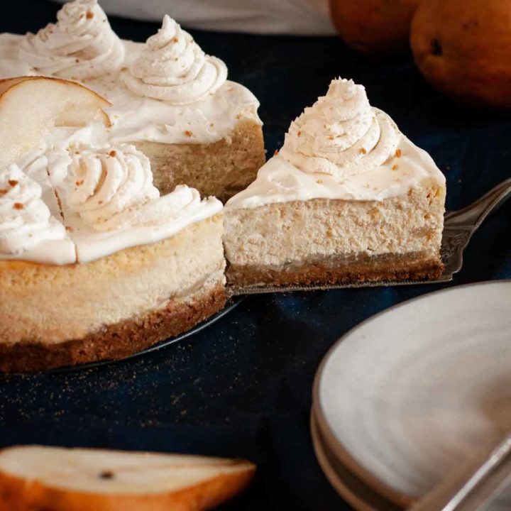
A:
[[[440,257],[422,254],[385,255],[369,258],[324,258],[280,268],[229,264],[227,285],[235,292],[243,287],[290,285],[345,285],[357,282],[435,280],[444,271]]]

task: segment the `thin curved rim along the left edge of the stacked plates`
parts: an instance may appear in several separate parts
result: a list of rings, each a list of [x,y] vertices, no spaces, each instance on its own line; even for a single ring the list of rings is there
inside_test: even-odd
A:
[[[343,444],[341,444],[341,441],[339,441],[339,439],[336,438],[334,432],[331,430],[331,427],[329,426],[326,420],[322,403],[321,400],[319,399],[319,385],[320,380],[322,379],[322,375],[324,373],[326,363],[329,361],[329,358],[331,358],[332,353],[336,351],[339,345],[348,336],[353,335],[355,331],[358,331],[358,329],[363,328],[363,326],[365,326],[367,323],[372,322],[373,320],[377,319],[383,314],[390,314],[392,312],[395,312],[395,310],[400,309],[400,307],[405,307],[408,304],[417,302],[419,300],[427,300],[429,299],[429,297],[439,295],[441,293],[447,294],[449,292],[454,292],[460,289],[480,287],[483,285],[493,286],[501,284],[511,285],[511,279],[481,280],[478,282],[468,282],[467,284],[462,285],[452,285],[449,287],[444,287],[441,290],[427,292],[422,295],[419,295],[418,297],[411,298],[410,300],[405,300],[404,302],[392,305],[391,307],[383,309],[382,311],[377,312],[373,316],[364,319],[363,322],[357,324],[356,326],[353,326],[352,329],[348,330],[345,334],[339,337],[339,339],[337,339],[337,341],[335,341],[334,344],[332,344],[332,346],[330,346],[330,348],[326,351],[322,358],[321,363],[319,363],[316,374],[314,375],[314,383],[312,386],[312,402],[316,404],[317,426],[319,427],[319,429],[321,429],[325,441],[327,442],[329,448],[332,451],[334,451],[334,453],[339,458],[341,463],[343,463],[346,466],[346,468],[349,469],[349,471],[351,471],[355,476],[357,476],[364,483],[370,486],[370,488],[373,488],[377,493],[380,493],[380,495],[383,495],[385,498],[387,498],[391,502],[394,502],[396,505],[400,506],[404,505],[405,507],[414,505],[415,503],[417,503],[417,496],[400,493],[387,483],[384,483],[383,480],[381,480],[378,476],[375,476],[374,473],[372,473],[368,468],[363,466],[361,463],[358,463],[358,461],[356,461],[356,459],[353,456],[351,456],[351,454],[343,446]]]

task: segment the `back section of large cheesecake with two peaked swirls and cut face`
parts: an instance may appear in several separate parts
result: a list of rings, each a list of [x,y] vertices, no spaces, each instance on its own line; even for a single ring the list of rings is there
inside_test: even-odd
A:
[[[38,33],[1,34],[0,72],[73,79],[108,99],[101,136],[148,155],[164,194],[185,184],[225,201],[265,162],[258,100],[169,16],[133,43],[119,39],[97,0],[71,1]]]

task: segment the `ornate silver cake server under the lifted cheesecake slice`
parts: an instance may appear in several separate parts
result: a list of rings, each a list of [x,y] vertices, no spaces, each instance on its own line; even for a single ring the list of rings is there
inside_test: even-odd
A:
[[[255,295],[268,292],[285,292],[300,290],[343,289],[345,287],[378,287],[394,285],[436,284],[453,280],[455,273],[463,265],[463,251],[471,240],[473,233],[492,212],[511,197],[511,178],[502,181],[480,199],[458,211],[446,211],[444,233],[441,243],[441,258],[444,261],[444,273],[435,280],[378,280],[374,282],[353,282],[334,285],[300,285],[300,286],[248,286],[231,289],[231,295]]]

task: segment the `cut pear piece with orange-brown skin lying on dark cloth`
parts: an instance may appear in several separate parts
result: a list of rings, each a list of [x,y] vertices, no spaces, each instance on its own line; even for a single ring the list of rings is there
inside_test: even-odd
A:
[[[17,446],[0,451],[0,509],[201,511],[240,493],[248,461]]]

